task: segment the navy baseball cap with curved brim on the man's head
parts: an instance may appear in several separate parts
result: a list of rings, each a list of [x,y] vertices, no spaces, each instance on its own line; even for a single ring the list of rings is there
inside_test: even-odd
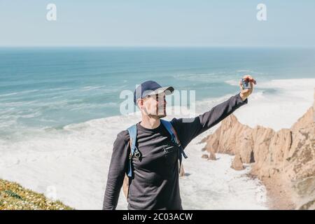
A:
[[[134,104],[137,104],[137,99],[143,99],[148,95],[160,94],[165,92],[165,94],[172,94],[174,92],[174,87],[166,86],[162,87],[160,84],[155,81],[148,80],[144,83],[141,83],[136,90],[134,90]]]

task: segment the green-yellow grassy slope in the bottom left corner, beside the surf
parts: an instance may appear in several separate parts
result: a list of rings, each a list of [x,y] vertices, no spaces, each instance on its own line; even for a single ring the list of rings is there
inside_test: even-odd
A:
[[[73,210],[18,183],[0,179],[0,210]]]

